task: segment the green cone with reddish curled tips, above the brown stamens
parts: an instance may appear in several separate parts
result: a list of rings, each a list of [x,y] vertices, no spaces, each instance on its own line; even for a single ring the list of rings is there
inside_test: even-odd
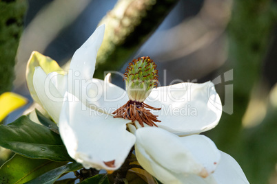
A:
[[[158,85],[158,70],[150,57],[134,59],[125,70],[126,91],[130,100],[143,102]]]

